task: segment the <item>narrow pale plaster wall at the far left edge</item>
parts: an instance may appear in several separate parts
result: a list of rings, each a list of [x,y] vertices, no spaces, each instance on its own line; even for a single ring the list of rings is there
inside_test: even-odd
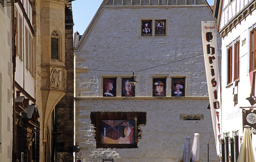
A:
[[[12,26],[11,7],[0,4],[0,161],[12,159]]]

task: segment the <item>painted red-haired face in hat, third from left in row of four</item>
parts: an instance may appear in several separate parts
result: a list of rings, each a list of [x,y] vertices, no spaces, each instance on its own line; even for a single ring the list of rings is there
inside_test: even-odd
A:
[[[153,97],[166,96],[166,78],[153,78]]]

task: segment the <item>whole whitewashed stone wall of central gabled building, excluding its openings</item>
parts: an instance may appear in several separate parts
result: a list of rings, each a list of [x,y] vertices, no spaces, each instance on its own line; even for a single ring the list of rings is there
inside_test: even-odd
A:
[[[76,70],[75,142],[83,161],[176,162],[185,138],[200,133],[200,162],[218,161],[209,104],[201,37],[201,21],[212,21],[210,7],[102,7],[74,49]],[[141,36],[141,20],[153,20],[153,36]],[[155,20],[166,20],[166,36],[155,36]],[[219,41],[220,39],[218,39]],[[185,59],[185,60],[182,60]],[[182,60],[182,61],[177,61]],[[175,62],[174,62],[175,61]],[[177,61],[177,62],[176,62]],[[170,63],[155,67],[161,64]],[[147,70],[139,71],[142,69]],[[105,70],[105,71],[95,71]],[[118,72],[114,72],[118,71]],[[121,78],[136,73],[135,97],[121,97]],[[152,97],[152,78],[166,77],[167,97]],[[172,77],[186,77],[186,97],[170,97]],[[117,78],[117,97],[102,97],[102,78]],[[96,148],[90,113],[147,112],[142,139],[133,149]],[[180,114],[203,114],[200,121]],[[191,141],[192,143],[192,141]]]

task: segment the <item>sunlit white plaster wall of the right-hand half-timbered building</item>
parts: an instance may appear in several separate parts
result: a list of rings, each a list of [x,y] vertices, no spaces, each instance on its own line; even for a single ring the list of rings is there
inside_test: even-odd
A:
[[[224,38],[222,38],[222,133],[239,131],[239,136],[243,135],[242,128],[242,109],[240,107],[251,106],[246,100],[250,96],[251,85],[249,80],[249,41],[252,24],[255,20],[256,12],[253,11],[246,19],[242,20],[235,28],[232,29]],[[251,30],[249,30],[251,28]],[[227,48],[233,40],[240,37],[240,79],[238,83],[238,104],[234,106],[233,102],[233,84],[227,85]],[[246,43],[242,46],[242,40],[246,39]],[[234,75],[233,75],[234,76]],[[256,142],[255,135],[252,136],[254,144]],[[256,155],[255,145],[253,145],[254,154]]]

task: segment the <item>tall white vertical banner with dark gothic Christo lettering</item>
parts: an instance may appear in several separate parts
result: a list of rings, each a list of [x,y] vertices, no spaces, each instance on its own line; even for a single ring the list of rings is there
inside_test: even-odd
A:
[[[217,54],[216,22],[201,22],[206,69],[207,87],[211,108],[212,126],[214,130],[216,151],[219,155],[219,139],[221,138],[221,88],[219,85],[219,67]]]

